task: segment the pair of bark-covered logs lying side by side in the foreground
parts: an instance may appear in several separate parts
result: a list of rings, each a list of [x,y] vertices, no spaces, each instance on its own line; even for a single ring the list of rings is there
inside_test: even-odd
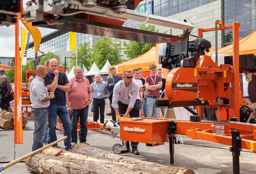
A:
[[[84,143],[71,151],[48,147],[29,157],[25,165],[38,174],[195,174],[188,168],[141,161]]]

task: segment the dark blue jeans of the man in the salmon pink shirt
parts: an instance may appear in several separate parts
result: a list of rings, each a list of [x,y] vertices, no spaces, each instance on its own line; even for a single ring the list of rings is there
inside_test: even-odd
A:
[[[86,142],[88,110],[89,110],[88,106],[86,106],[83,109],[73,109],[72,117],[71,117],[71,120],[72,120],[71,142],[77,143],[77,122],[79,118],[80,118],[79,141],[80,143]]]

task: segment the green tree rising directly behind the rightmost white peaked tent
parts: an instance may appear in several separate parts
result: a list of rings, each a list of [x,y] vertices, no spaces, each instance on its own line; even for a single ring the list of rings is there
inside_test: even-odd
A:
[[[99,69],[102,69],[108,60],[111,65],[116,65],[123,62],[121,54],[120,39],[112,38],[97,38],[92,47],[92,56],[90,62],[95,62]]]

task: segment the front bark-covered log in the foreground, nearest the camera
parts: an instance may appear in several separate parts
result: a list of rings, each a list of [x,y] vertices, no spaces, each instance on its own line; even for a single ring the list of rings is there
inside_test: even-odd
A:
[[[137,163],[102,160],[54,147],[47,148],[42,153],[26,160],[28,170],[39,174],[194,174],[192,170],[181,167],[141,166]]]

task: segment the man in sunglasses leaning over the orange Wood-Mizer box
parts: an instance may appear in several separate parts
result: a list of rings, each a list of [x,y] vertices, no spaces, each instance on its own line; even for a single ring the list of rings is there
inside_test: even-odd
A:
[[[129,116],[132,118],[139,117],[139,108],[136,102],[138,95],[138,85],[132,81],[133,75],[129,70],[123,72],[123,80],[119,81],[113,90],[112,107],[115,109],[117,117],[120,114],[124,114],[125,117]],[[130,144],[127,141],[127,152],[130,151]],[[137,149],[138,143],[131,142],[132,152],[134,155],[139,155],[140,152]]]

